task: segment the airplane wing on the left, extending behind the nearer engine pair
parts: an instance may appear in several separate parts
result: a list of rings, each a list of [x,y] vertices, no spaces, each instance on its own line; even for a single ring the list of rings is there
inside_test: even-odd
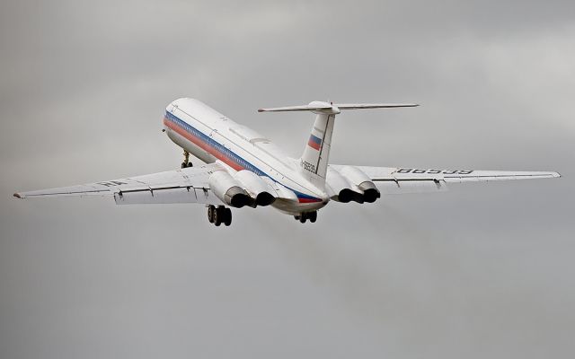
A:
[[[18,198],[38,197],[114,197],[118,205],[200,203],[223,205],[211,192],[209,176],[224,171],[217,163],[189,167],[177,171],[165,171],[119,180],[106,180],[84,185],[40,189],[14,193]]]

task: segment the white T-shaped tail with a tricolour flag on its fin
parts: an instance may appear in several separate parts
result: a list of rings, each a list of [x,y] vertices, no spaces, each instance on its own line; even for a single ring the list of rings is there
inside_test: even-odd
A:
[[[288,106],[271,109],[258,109],[258,112],[311,111],[317,114],[314,127],[305,144],[304,153],[299,159],[300,171],[307,180],[320,188],[325,185],[325,176],[332,148],[332,133],[335,115],[341,109],[393,109],[415,107],[413,103],[339,103],[313,101],[303,106]]]

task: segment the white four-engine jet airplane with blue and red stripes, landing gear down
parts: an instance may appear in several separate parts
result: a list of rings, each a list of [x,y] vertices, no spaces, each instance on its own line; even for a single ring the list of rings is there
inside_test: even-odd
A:
[[[162,131],[183,149],[181,169],[119,180],[14,193],[17,198],[113,197],[118,205],[198,203],[208,221],[232,223],[233,208],[271,206],[314,223],[330,202],[373,203],[382,194],[447,190],[447,183],[558,178],[553,171],[474,171],[371,167],[329,162],[336,115],[349,109],[393,109],[411,103],[312,101],[259,112],[306,111],[316,117],[304,153],[290,158],[270,139],[235,123],[205,103],[181,98],[165,109]],[[190,154],[205,164],[192,166]]]

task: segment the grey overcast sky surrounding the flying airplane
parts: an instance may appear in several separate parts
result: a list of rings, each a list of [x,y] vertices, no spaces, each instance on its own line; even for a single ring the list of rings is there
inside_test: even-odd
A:
[[[0,357],[542,358],[575,352],[572,1],[0,4]],[[179,97],[297,157],[560,171],[331,204],[317,223],[16,190],[176,169]]]

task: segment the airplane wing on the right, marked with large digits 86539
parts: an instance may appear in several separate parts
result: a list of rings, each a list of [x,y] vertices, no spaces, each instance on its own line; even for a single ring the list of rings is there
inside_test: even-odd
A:
[[[338,171],[344,166],[332,165]],[[530,180],[561,177],[557,172],[546,171],[473,171],[473,170],[422,170],[415,168],[354,166],[376,183],[387,194],[432,192],[447,190],[447,183],[491,180]]]

